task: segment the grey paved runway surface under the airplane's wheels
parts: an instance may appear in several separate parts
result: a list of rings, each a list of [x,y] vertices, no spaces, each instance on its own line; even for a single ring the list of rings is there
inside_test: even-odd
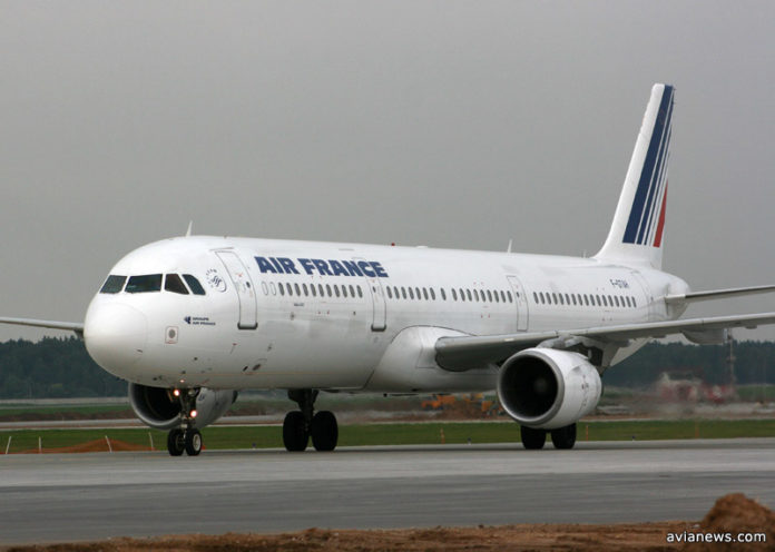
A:
[[[775,438],[0,456],[0,544],[171,533],[698,520],[775,506]]]

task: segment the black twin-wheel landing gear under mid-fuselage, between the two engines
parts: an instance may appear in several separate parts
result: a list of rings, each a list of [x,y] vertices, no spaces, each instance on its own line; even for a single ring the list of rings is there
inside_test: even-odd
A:
[[[290,390],[288,398],[298,404],[283,422],[283,444],[292,452],[304,451],[310,437],[316,451],[333,451],[339,440],[336,417],[328,411],[315,413],[317,390]]]

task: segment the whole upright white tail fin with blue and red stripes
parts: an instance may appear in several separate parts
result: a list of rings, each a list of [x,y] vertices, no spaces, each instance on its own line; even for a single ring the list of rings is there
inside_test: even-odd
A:
[[[669,85],[651,88],[614,223],[596,258],[661,268],[674,96]]]

